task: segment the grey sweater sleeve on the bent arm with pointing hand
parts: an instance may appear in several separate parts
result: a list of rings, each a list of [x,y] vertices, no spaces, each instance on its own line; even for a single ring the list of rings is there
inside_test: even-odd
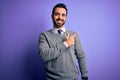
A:
[[[66,49],[64,43],[60,43],[54,47],[50,47],[49,41],[45,33],[41,33],[38,39],[39,54],[44,62],[57,58],[62,50]]]

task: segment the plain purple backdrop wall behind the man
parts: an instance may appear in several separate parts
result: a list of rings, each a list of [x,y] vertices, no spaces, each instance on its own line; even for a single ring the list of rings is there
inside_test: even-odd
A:
[[[89,80],[120,80],[119,0],[0,0],[0,80],[45,79],[38,36],[52,28],[59,2],[69,10],[66,27],[80,35]]]

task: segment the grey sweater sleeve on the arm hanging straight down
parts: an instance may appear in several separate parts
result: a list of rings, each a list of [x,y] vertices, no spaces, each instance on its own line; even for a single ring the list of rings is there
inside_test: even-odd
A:
[[[87,70],[86,56],[85,56],[84,50],[82,48],[79,37],[77,36],[75,40],[76,40],[76,42],[75,42],[75,53],[76,53],[76,56],[77,56],[77,59],[78,59],[81,76],[82,77],[87,77],[88,76],[87,75],[88,70]]]

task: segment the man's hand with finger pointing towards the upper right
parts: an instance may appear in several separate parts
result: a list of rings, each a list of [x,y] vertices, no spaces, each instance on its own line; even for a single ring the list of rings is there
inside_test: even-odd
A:
[[[75,44],[75,37],[78,36],[78,33],[73,34],[72,36],[69,36],[67,33],[65,42],[68,46],[73,46]]]

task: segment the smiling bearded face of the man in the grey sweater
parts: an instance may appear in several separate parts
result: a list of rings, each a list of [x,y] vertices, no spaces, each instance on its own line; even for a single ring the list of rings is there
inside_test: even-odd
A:
[[[52,15],[54,27],[63,27],[66,21],[66,10],[64,8],[55,8],[55,12]]]

